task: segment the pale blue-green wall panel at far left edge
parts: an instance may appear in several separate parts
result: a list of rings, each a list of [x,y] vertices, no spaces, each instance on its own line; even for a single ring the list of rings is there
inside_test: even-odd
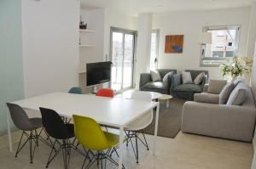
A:
[[[24,97],[20,14],[20,1],[0,1],[0,134],[7,130],[5,103]]]

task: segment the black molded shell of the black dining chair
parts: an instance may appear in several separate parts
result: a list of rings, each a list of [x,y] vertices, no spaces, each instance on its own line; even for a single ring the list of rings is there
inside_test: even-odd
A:
[[[55,110],[50,110],[46,108],[39,108],[42,115],[43,126],[48,132],[49,136],[57,139],[67,138],[68,132],[61,119]]]

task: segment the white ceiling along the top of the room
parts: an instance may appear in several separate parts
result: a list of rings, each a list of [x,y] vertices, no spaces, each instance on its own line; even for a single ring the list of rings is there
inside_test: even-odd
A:
[[[247,7],[254,0],[81,0],[82,7],[109,8],[120,13],[168,13],[177,10],[207,10]]]

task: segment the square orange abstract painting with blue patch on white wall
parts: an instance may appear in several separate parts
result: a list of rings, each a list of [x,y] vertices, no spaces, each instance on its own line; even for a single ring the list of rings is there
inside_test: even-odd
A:
[[[183,35],[166,35],[165,53],[183,53]]]

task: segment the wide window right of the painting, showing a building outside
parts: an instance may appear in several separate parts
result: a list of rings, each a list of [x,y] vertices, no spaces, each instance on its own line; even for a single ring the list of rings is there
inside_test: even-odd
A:
[[[219,66],[236,56],[240,26],[206,26],[203,31],[212,33],[212,44],[201,44],[201,66]]]

